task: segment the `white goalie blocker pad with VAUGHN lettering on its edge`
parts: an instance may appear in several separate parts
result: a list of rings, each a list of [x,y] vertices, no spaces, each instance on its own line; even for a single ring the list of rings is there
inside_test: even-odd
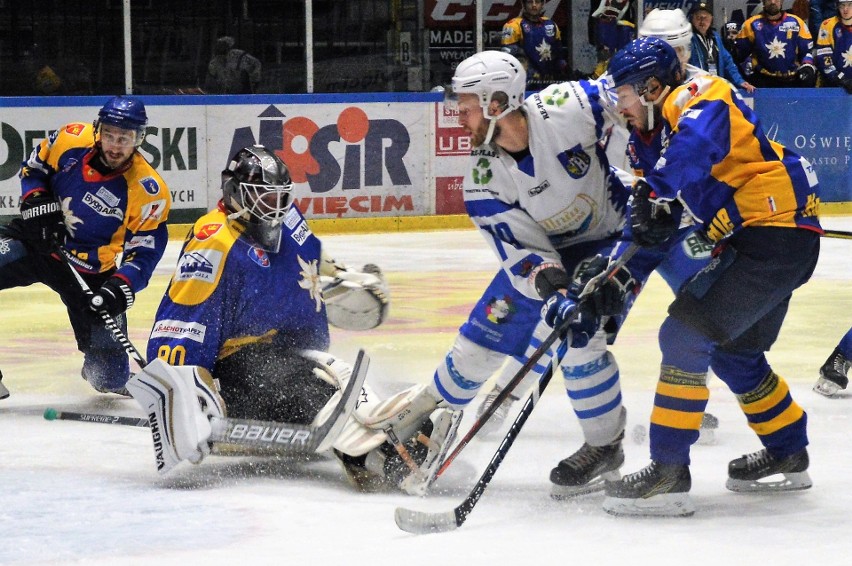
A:
[[[183,460],[198,464],[210,453],[210,418],[224,417],[225,404],[205,369],[154,360],[127,389],[148,416],[159,473]]]

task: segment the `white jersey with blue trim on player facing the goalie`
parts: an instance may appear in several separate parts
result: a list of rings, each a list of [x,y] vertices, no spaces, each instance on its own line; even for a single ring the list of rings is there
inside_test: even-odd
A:
[[[623,126],[605,84],[565,82],[529,96],[521,108],[528,151],[513,155],[491,144],[471,152],[468,215],[527,297],[541,298],[533,270],[559,264],[556,250],[617,235],[624,225],[629,194],[608,183],[603,147]]]

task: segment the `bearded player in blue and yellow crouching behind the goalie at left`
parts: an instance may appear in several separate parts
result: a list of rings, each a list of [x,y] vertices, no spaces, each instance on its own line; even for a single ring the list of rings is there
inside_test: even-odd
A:
[[[100,392],[125,393],[130,367],[95,310],[126,333],[124,312],[168,240],[169,188],[137,151],[147,123],[141,100],[116,96],[94,124],[50,134],[21,168],[21,218],[0,232],[0,289],[44,283],[59,294],[84,354],[83,377]],[[94,290],[91,300],[57,245]]]

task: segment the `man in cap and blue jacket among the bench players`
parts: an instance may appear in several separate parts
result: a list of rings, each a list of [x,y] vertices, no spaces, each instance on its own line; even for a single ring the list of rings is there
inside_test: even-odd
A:
[[[728,82],[754,92],[754,86],[743,79],[733,57],[725,49],[722,37],[713,29],[713,3],[701,0],[689,11],[692,24],[692,55],[689,64],[719,75]]]

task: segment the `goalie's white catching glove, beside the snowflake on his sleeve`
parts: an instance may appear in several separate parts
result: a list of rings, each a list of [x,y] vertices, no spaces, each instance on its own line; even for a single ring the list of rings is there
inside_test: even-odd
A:
[[[390,289],[382,270],[373,264],[365,265],[362,271],[337,271],[323,286],[322,294],[328,322],[344,330],[375,328],[390,311]]]

